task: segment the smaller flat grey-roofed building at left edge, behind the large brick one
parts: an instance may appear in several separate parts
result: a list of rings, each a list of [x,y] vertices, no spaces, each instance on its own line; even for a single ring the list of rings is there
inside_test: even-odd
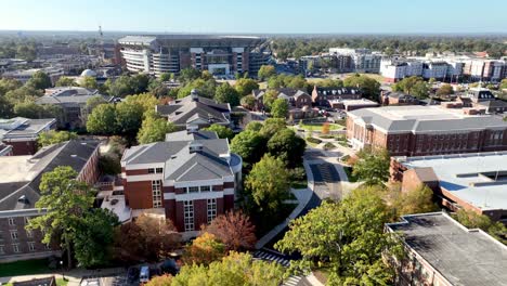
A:
[[[32,155],[37,152],[37,139],[42,132],[56,128],[56,119],[27,119],[15,117],[0,119],[0,141],[12,146],[13,155]]]

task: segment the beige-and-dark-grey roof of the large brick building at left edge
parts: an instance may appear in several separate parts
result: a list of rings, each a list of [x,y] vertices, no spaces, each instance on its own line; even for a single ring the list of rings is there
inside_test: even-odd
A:
[[[44,173],[58,166],[80,172],[98,147],[98,141],[70,140],[43,147],[34,156],[0,157],[0,212],[34,208]],[[20,204],[23,196],[25,204]]]

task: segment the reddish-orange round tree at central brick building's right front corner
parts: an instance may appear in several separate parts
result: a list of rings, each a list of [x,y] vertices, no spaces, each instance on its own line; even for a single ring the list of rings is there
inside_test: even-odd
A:
[[[256,226],[242,211],[227,211],[218,216],[205,231],[222,242],[226,251],[250,250],[257,243]]]

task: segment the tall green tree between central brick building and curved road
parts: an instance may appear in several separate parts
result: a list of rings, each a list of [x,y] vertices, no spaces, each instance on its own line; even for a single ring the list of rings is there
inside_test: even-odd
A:
[[[287,198],[289,174],[285,164],[270,155],[253,165],[245,181],[245,188],[261,210],[274,212]]]

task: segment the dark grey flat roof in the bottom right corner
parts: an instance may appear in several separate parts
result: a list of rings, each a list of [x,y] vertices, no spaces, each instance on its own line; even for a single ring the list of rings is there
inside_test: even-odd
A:
[[[452,285],[505,285],[507,247],[480,230],[468,230],[442,212],[402,217],[387,227]]]

